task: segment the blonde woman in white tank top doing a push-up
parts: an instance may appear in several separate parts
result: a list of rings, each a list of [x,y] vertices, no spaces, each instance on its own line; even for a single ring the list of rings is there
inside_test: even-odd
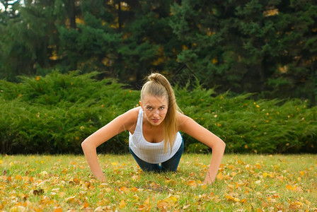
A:
[[[98,163],[96,148],[122,131],[129,131],[129,151],[144,171],[176,171],[183,153],[179,131],[212,148],[212,160],[204,183],[214,182],[226,144],[190,117],[179,112],[168,80],[152,73],[141,90],[140,107],[121,114],[89,136],[81,146],[93,175],[105,176]]]

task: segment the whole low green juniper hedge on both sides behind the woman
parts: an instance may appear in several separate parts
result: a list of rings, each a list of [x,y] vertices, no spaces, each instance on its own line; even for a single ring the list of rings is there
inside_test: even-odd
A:
[[[117,115],[135,107],[139,91],[114,79],[96,81],[97,72],[21,77],[0,81],[0,153],[81,153],[81,141]],[[232,153],[316,153],[317,107],[301,100],[258,100],[252,94],[217,95],[197,83],[179,88],[181,110],[226,142]],[[185,151],[208,148],[183,135]],[[98,151],[126,153],[123,132]]]

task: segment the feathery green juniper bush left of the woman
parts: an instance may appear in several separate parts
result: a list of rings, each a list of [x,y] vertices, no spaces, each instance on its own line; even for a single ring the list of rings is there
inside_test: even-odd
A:
[[[81,141],[125,108],[139,93],[98,74],[51,73],[22,77],[22,83],[0,82],[1,153],[81,153]],[[117,136],[108,148],[126,150]]]

